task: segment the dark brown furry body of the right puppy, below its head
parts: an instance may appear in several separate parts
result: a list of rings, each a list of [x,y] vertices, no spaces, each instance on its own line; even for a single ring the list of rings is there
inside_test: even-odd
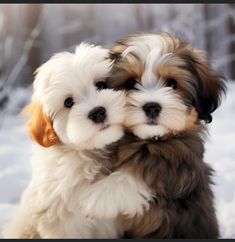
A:
[[[210,188],[212,169],[203,162],[202,137],[200,128],[159,141],[140,140],[132,134],[120,141],[115,170],[134,173],[155,194],[143,216],[118,218],[126,237],[219,236]]]

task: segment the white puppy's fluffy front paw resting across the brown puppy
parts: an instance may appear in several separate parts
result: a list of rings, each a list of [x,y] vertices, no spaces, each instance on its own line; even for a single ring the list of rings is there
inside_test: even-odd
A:
[[[117,171],[83,191],[79,204],[91,217],[111,219],[120,213],[130,217],[142,215],[152,198],[143,181],[128,172]]]

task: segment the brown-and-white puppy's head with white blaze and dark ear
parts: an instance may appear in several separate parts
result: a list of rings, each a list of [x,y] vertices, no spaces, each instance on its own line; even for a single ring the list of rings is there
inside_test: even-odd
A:
[[[137,33],[116,43],[108,85],[127,94],[125,126],[142,139],[211,122],[225,85],[206,54],[167,33]]]

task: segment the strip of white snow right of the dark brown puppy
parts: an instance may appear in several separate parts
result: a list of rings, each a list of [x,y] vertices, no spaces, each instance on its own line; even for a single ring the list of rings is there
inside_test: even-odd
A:
[[[205,160],[215,169],[216,210],[223,238],[235,238],[235,83],[215,111]]]

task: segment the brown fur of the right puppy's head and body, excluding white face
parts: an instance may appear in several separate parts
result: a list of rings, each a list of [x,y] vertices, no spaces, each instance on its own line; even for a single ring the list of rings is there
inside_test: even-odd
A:
[[[124,59],[121,53],[132,38],[143,34],[148,35],[129,35],[112,48],[115,65],[109,87],[125,90],[128,78],[142,75],[141,60],[132,53]],[[213,170],[203,161],[206,127],[200,120],[211,122],[225,84],[212,70],[204,52],[167,33],[160,35],[167,42],[164,53],[172,54],[157,67],[156,80],[177,81],[175,91],[188,107],[186,126],[157,141],[141,140],[129,129],[119,142],[114,170],[127,170],[139,177],[151,188],[155,200],[143,216],[120,215],[118,220],[126,238],[218,238],[211,190]]]

